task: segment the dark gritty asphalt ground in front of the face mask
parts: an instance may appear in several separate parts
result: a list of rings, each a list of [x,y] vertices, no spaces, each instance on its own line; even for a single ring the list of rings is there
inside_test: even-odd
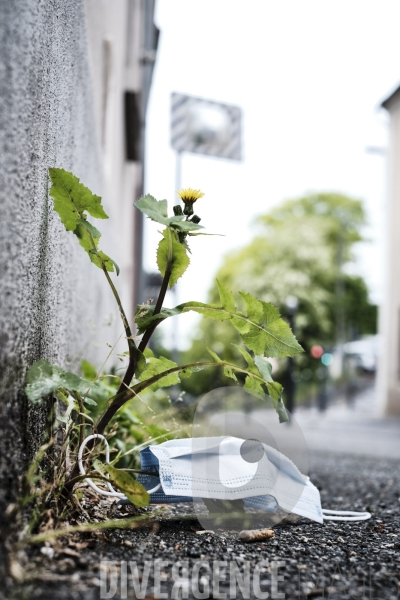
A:
[[[272,539],[249,544],[179,520],[191,506],[176,505],[170,509],[175,521],[74,533],[20,551],[19,583],[8,582],[7,598],[400,598],[398,461],[319,453],[311,457],[310,477],[323,508],[368,510],[372,518],[323,525],[300,518],[276,526]],[[102,521],[110,514],[110,503],[90,494],[81,504],[83,518]],[[126,517],[120,509],[118,515]]]

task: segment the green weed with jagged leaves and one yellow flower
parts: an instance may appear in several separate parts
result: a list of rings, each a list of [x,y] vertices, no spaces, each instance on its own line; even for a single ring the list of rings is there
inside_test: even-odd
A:
[[[137,307],[134,317],[135,335],[122,306],[112,275],[119,275],[116,262],[99,248],[101,233],[89,221],[107,219],[101,204],[101,198],[85,187],[77,177],[63,169],[49,170],[52,183],[50,195],[54,199],[54,210],[67,231],[78,238],[79,244],[87,253],[90,261],[104,273],[118,305],[127,343],[128,364],[122,377],[110,379],[101,377],[79,377],[46,360],[34,363],[28,371],[25,392],[33,403],[43,402],[49,395],[65,405],[58,421],[64,430],[64,450],[68,465],[62,475],[59,474],[59,498],[68,499],[74,485],[83,479],[79,475],[77,454],[83,439],[93,433],[105,434],[118,432],[119,415],[123,418],[122,407],[128,402],[139,402],[140,395],[148,391],[177,385],[185,377],[200,369],[223,368],[224,374],[237,382],[237,374],[244,377],[244,388],[251,394],[264,397],[268,394],[281,422],[288,420],[282,401],[282,386],[272,378],[272,367],[266,357],[282,358],[294,356],[302,351],[288,324],[281,319],[279,311],[268,302],[239,292],[243,307],[238,307],[234,297],[226,287],[217,281],[219,304],[207,304],[190,301],[174,308],[164,306],[168,288],[172,288],[189,266],[188,240],[192,236],[209,235],[202,232],[200,217],[194,214],[194,205],[204,194],[200,190],[182,189],[178,195],[183,203],[173,207],[168,214],[167,200],[156,200],[146,195],[135,202],[138,210],[149,219],[162,225],[161,240],[157,247],[157,265],[163,277],[156,303]],[[197,205],[196,205],[197,207]],[[233,364],[208,350],[209,361],[177,365],[163,356],[154,356],[147,347],[155,329],[166,319],[194,311],[204,318],[226,321],[237,329],[243,345],[237,346],[245,362]],[[140,341],[138,341],[140,340]],[[85,375],[85,370],[84,370]],[[108,381],[108,384],[107,384]],[[117,382],[117,383],[115,383]],[[96,415],[99,400],[106,399],[103,412]],[[120,412],[119,412],[120,411]],[[114,424],[114,425],[113,425]],[[114,427],[114,429],[113,429]],[[134,448],[133,450],[137,450]],[[96,443],[88,446],[86,461],[95,458]],[[92,460],[93,467],[87,475],[99,481],[111,480],[131,502],[143,507],[149,503],[147,491],[136,481],[134,475],[124,469],[116,468],[117,458],[110,465]],[[94,469],[94,471],[93,471]],[[132,471],[132,469],[128,470]]]

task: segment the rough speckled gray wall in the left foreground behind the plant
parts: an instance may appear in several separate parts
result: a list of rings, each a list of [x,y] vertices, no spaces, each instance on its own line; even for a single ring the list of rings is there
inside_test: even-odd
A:
[[[0,522],[46,427],[45,408],[22,392],[28,366],[67,366],[85,323],[109,308],[101,271],[48,196],[50,166],[101,194],[83,8],[0,0]]]

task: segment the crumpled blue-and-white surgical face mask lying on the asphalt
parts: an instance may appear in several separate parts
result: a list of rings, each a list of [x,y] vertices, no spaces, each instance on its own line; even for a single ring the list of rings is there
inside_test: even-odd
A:
[[[209,499],[229,516],[237,506],[234,502],[242,500],[243,512],[270,517],[280,512],[269,524],[290,513],[321,524],[324,519],[356,521],[371,516],[322,510],[319,491],[310,478],[281,452],[258,440],[233,436],[171,440],[142,450],[141,468],[149,475],[138,480],[156,504],[203,499],[209,508]],[[207,525],[211,528],[209,520]]]

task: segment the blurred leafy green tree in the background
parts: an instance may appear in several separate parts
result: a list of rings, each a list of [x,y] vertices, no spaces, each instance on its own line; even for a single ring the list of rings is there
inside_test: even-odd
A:
[[[284,316],[288,316],[286,299],[296,296],[295,331],[305,349],[295,358],[299,368],[315,367],[309,354],[313,344],[328,348],[335,344],[339,320],[346,339],[376,333],[377,308],[369,301],[366,283],[346,272],[354,263],[353,247],[363,239],[364,224],[362,202],[341,194],[287,200],[256,219],[258,233],[253,241],[231,252],[216,275],[234,292],[248,290],[272,302]],[[210,302],[218,301],[217,293],[213,286]],[[232,343],[240,343],[232,328],[206,319],[186,351],[185,362],[206,357],[207,346],[240,360]],[[230,382],[216,369],[184,381],[185,391],[193,395],[220,385]]]

